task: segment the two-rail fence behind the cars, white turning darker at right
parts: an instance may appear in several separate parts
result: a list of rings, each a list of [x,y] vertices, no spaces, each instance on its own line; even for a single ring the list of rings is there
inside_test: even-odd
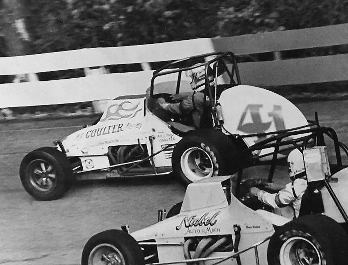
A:
[[[0,58],[0,75],[17,75],[105,65],[171,61],[231,50],[236,55],[348,44],[348,24],[204,38],[139,46],[92,48]],[[348,80],[348,54],[240,63],[242,83],[258,86]],[[0,84],[0,108],[62,104],[143,94],[152,71],[110,73],[79,78]]]

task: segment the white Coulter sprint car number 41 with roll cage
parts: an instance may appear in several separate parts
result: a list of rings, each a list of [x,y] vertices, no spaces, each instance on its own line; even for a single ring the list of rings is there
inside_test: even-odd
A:
[[[168,114],[157,99],[177,102],[172,95],[191,91],[187,71],[202,66],[205,109],[195,127],[190,115]],[[209,85],[208,68],[215,75],[214,87]],[[293,148],[289,144],[307,141],[317,126],[317,119],[308,121],[282,96],[241,85],[233,53],[204,54],[154,71],[145,94],[110,100],[91,126],[55,141],[54,147],[27,154],[19,174],[25,190],[37,200],[60,198],[74,180],[83,179],[173,172],[188,185],[258,163],[275,165]]]

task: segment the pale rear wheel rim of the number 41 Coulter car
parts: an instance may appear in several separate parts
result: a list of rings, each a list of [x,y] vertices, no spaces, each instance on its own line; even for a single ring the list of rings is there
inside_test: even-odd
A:
[[[207,151],[199,147],[190,147],[183,152],[180,166],[185,177],[192,182],[213,176],[214,164]]]

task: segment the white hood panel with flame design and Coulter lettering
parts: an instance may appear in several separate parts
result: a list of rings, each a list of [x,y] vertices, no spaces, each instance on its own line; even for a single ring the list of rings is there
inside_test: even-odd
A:
[[[111,100],[97,124],[87,126],[62,140],[67,156],[104,155],[109,146],[132,145],[149,135],[144,100]]]

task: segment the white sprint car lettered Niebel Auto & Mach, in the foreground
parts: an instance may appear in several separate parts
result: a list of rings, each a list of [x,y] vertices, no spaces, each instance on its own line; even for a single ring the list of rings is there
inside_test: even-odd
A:
[[[160,210],[158,223],[92,236],[81,264],[347,264],[348,168],[331,175],[324,146],[302,152],[308,188],[298,218],[250,208],[236,176],[204,178],[188,185],[167,217]]]

